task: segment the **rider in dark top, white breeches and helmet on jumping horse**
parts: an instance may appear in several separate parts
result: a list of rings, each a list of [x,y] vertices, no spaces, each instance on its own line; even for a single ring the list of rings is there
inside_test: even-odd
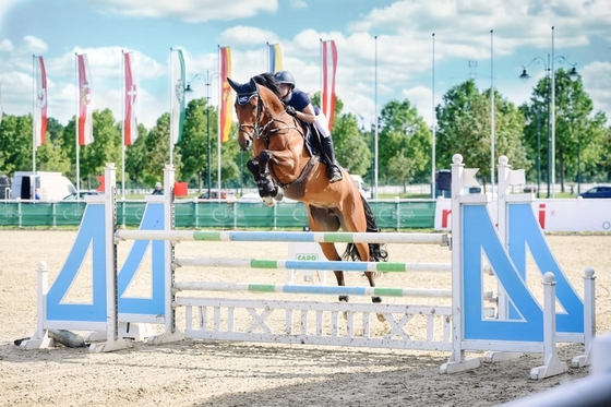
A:
[[[328,123],[324,113],[318,107],[313,107],[306,92],[295,87],[295,77],[288,71],[279,71],[274,75],[281,86],[280,98],[286,105],[286,111],[299,120],[314,123],[321,133],[321,146],[328,161],[328,181],[342,181],[342,169],[335,160],[333,140],[328,130]]]

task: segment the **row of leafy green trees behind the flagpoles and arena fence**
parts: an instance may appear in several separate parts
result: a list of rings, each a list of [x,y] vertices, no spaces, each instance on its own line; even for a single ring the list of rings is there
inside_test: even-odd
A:
[[[513,168],[525,168],[529,182],[548,178],[550,81],[543,77],[532,89],[530,101],[515,106],[495,92],[495,161],[506,155]],[[555,171],[562,184],[607,182],[611,179],[611,128],[603,112],[595,112],[582,80],[572,82],[566,71],[555,75]],[[313,97],[318,104],[319,96]],[[209,109],[209,110],[208,110]],[[218,134],[217,110],[205,98],[193,99],[187,107],[182,140],[173,147],[172,163],[177,180],[190,188],[217,184]],[[490,180],[491,145],[490,89],[479,91],[474,80],[454,86],[435,107],[435,163],[438,169],[450,168],[452,155],[460,153],[468,167],[480,168],[486,185]],[[96,110],[95,142],[80,147],[81,184],[87,188],[103,173],[106,163],[116,163],[121,173],[121,124],[109,109]],[[428,183],[431,177],[432,129],[409,100],[391,100],[379,116],[380,184]],[[209,123],[209,127],[208,127]],[[125,148],[127,187],[151,188],[163,179],[169,161],[169,113],[157,119],[152,129],[139,125],[134,145]],[[209,131],[208,131],[209,129]],[[351,173],[371,182],[374,167],[375,129],[359,127],[356,116],[343,112],[337,100],[333,137],[339,163]],[[220,145],[223,188],[254,188],[245,163],[251,153],[240,152],[231,140]],[[209,159],[208,159],[209,135]],[[49,118],[47,143],[36,151],[38,170],[61,171],[75,181],[75,121],[62,125]],[[540,168],[540,171],[538,171]],[[32,116],[4,115],[0,123],[0,172],[32,169]],[[580,169],[580,170],[579,170]]]

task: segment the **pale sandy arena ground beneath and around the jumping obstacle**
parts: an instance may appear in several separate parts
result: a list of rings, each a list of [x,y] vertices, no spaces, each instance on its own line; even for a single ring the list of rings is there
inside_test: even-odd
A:
[[[0,405],[2,406],[493,406],[588,375],[588,368],[542,381],[529,380],[540,355],[453,375],[438,373],[448,354],[369,348],[204,342],[89,354],[62,346],[24,350],[13,340],[36,325],[36,264],[48,263],[55,278],[72,247],[75,231],[0,230]],[[583,295],[586,266],[597,272],[597,331],[611,331],[611,236],[549,236],[561,264]],[[203,255],[203,243],[183,242],[180,255]],[[285,243],[205,243],[213,256],[286,259]],[[253,244],[256,255],[252,254]],[[129,251],[121,243],[119,258]],[[445,262],[447,248],[388,246],[391,261]],[[249,255],[250,254],[250,255]],[[231,271],[179,271],[181,276],[231,280]],[[242,272],[243,273],[243,272]],[[530,273],[530,271],[529,271]],[[242,274],[243,278],[243,274]],[[297,280],[304,284],[302,276]],[[351,274],[348,285],[364,284]],[[378,285],[446,287],[450,276],[384,275]],[[530,278],[530,274],[529,274]],[[534,278],[535,279],[535,278]],[[242,280],[244,282],[244,280]],[[248,282],[283,284],[286,272],[256,273]],[[540,282],[540,279],[538,279]],[[333,278],[330,276],[330,284]],[[86,284],[85,284],[86,285]],[[536,286],[540,286],[537,283]],[[75,290],[79,291],[76,286]],[[384,323],[376,322],[380,330]],[[179,324],[180,325],[180,324]],[[570,361],[583,347],[564,345]]]

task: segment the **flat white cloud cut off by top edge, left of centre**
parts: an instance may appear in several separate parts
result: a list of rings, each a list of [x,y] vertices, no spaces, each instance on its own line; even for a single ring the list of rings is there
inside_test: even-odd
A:
[[[189,23],[232,21],[274,13],[277,0],[94,0],[103,12],[137,17],[170,17]]]

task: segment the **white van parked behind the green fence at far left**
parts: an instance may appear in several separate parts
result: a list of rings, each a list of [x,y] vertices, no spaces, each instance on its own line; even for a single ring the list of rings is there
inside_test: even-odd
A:
[[[15,171],[11,185],[13,200],[34,200],[38,194],[40,201],[59,201],[71,193],[76,193],[76,189],[61,172]]]

